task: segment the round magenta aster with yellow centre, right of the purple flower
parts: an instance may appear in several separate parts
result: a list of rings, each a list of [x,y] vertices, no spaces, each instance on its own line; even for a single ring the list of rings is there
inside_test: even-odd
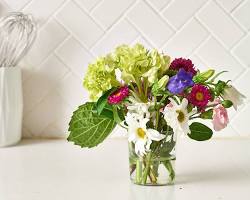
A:
[[[194,106],[203,108],[211,100],[209,89],[204,85],[194,85],[191,93],[188,95],[188,100]]]

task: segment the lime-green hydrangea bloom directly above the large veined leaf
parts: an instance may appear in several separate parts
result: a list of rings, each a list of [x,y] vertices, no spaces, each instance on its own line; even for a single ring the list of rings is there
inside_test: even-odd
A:
[[[97,100],[103,92],[120,85],[116,80],[115,65],[110,55],[101,57],[88,66],[83,85],[89,91],[91,100]]]

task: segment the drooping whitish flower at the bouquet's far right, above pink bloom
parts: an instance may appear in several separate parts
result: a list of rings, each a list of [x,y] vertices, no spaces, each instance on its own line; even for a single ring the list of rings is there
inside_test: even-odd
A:
[[[231,86],[224,90],[222,97],[225,100],[230,100],[233,102],[234,109],[237,110],[238,106],[243,104],[244,99],[246,98],[241,94],[235,87]]]

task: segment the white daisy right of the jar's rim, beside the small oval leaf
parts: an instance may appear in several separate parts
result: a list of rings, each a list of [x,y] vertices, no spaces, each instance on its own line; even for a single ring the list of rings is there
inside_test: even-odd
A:
[[[188,121],[193,112],[188,113],[187,105],[188,100],[185,98],[180,105],[178,105],[173,99],[170,99],[170,103],[164,109],[164,119],[173,129],[175,134],[190,133]]]

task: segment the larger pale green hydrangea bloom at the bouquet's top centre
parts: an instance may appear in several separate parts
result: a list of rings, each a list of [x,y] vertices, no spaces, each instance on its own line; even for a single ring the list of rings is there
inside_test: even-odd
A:
[[[153,83],[166,72],[170,64],[170,57],[157,50],[150,52],[141,44],[133,47],[121,45],[116,48],[113,57],[126,83],[140,80],[141,77],[147,77]]]

